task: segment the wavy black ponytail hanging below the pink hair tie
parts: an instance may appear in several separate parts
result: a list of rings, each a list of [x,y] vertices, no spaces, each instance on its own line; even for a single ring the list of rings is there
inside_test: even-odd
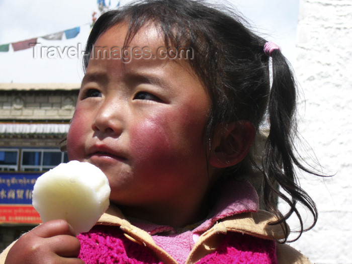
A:
[[[295,213],[300,222],[300,232],[296,241],[303,231],[311,229],[318,217],[317,208],[309,195],[303,191],[298,183],[294,165],[300,169],[316,174],[298,161],[295,156],[294,138],[296,131],[296,82],[290,65],[282,55],[280,49],[271,52],[273,65],[273,82],[269,99],[270,133],[265,147],[262,165],[264,172],[263,197],[267,210],[278,217],[278,221],[272,224],[281,224],[286,239],[289,234],[286,220]],[[279,190],[278,187],[281,187]],[[286,194],[285,194],[285,193]],[[290,207],[283,215],[277,209],[277,198],[282,199]],[[302,216],[296,208],[300,203],[313,215],[313,224],[304,229]]]

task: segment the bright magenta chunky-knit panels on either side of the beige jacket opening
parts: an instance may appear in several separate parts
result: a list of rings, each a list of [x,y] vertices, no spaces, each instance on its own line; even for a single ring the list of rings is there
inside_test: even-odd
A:
[[[86,264],[161,264],[142,245],[126,238],[119,228],[95,226],[90,232],[78,235],[81,242],[79,258]],[[213,253],[199,264],[277,264],[275,241],[239,233],[229,233]]]

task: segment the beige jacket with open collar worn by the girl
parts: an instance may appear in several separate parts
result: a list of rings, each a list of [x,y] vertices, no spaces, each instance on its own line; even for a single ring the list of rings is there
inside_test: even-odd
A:
[[[205,255],[213,252],[227,232],[239,232],[271,240],[284,238],[284,233],[279,225],[268,224],[273,220],[275,218],[270,213],[260,210],[257,213],[243,213],[223,219],[200,236],[192,248],[186,264],[196,263]],[[160,261],[165,264],[178,263],[165,250],[157,246],[147,232],[127,221],[115,206],[109,207],[99,219],[98,224],[119,226],[127,238],[151,249]],[[0,264],[5,263],[6,255],[11,246],[12,244],[0,254]],[[286,244],[277,244],[277,256],[279,264],[311,263],[307,257]]]

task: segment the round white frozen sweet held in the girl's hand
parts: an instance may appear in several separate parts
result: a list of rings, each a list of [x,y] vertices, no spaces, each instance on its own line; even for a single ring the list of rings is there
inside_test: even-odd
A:
[[[43,222],[64,219],[76,234],[89,231],[109,207],[108,178],[97,166],[76,160],[41,175],[32,193]]]

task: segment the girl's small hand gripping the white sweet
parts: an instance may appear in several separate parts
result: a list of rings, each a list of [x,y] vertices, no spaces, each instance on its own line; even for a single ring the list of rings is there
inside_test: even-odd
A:
[[[77,258],[79,249],[79,240],[65,220],[48,221],[19,238],[5,264],[84,264]]]

